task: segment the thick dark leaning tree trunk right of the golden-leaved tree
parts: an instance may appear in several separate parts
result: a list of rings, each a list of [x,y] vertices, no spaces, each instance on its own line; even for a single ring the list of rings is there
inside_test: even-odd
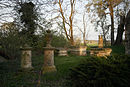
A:
[[[124,25],[125,25],[125,16],[120,16],[120,24],[118,25],[117,37],[116,37],[116,41],[115,41],[114,45],[121,45],[122,44]]]

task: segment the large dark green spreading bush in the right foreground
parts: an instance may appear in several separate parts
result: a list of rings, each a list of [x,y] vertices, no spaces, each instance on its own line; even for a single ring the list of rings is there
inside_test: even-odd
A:
[[[91,57],[72,68],[67,84],[70,87],[130,87],[128,56],[107,59]]]

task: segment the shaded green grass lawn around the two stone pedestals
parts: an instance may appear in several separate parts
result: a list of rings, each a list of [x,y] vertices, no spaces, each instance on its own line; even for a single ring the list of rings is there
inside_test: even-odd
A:
[[[112,54],[124,53],[124,47],[111,47]],[[20,59],[0,63],[0,87],[67,87],[65,81],[69,69],[75,67],[88,56],[55,56],[57,72],[41,74],[43,55],[33,55],[32,71],[20,69]]]

